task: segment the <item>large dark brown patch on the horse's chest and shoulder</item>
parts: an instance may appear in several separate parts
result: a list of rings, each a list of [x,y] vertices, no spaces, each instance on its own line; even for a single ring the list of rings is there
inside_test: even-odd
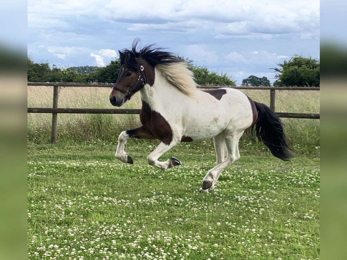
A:
[[[166,145],[171,143],[172,130],[169,123],[160,113],[152,111],[150,105],[144,101],[142,101],[140,121],[143,127],[150,131],[156,139],[161,140]]]

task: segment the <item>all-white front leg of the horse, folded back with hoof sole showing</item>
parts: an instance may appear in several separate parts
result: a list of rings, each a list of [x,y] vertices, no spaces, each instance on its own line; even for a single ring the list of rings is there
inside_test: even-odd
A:
[[[159,162],[158,159],[172,147],[177,145],[180,142],[180,139],[172,139],[168,144],[166,140],[162,140],[161,143],[147,156],[147,161],[149,165],[158,167],[159,169],[165,171],[168,168],[182,164],[177,158],[171,157],[166,162]]]

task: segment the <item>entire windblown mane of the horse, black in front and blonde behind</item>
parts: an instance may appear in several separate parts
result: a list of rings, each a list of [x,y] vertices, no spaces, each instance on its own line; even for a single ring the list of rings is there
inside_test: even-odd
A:
[[[186,62],[170,52],[163,51],[163,48],[154,47],[154,44],[147,45],[137,51],[136,46],[139,41],[139,39],[134,40],[131,50],[119,51],[121,66],[125,64],[130,70],[138,70],[140,64],[138,64],[136,58],[142,58],[183,93],[188,96],[196,94],[194,74],[187,68]]]

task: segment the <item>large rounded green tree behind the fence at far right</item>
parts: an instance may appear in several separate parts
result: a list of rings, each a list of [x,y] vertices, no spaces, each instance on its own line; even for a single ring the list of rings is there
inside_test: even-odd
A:
[[[273,69],[278,72],[274,86],[320,86],[320,62],[316,59],[294,55],[289,61],[277,65],[280,68]]]

